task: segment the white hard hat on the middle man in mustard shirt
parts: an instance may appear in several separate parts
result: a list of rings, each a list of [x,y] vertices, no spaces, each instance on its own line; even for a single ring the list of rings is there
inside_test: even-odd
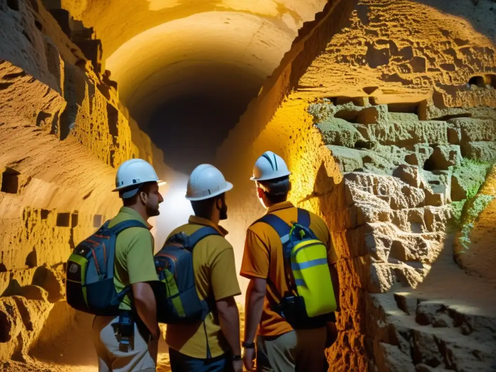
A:
[[[210,164],[197,166],[187,182],[186,199],[205,200],[220,195],[233,188],[222,173]]]

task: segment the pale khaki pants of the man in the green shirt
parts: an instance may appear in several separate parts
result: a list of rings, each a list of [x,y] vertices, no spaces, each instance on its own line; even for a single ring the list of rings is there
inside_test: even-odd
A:
[[[98,371],[155,372],[155,362],[148,352],[148,343],[139,333],[136,324],[134,337],[129,341],[129,350],[119,350],[118,320],[119,316],[96,316],[93,320],[93,343],[98,356]]]

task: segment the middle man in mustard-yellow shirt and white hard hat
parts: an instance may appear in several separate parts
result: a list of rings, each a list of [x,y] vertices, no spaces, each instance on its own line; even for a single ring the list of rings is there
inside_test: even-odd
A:
[[[234,250],[224,238],[227,231],[219,226],[227,219],[225,192],[233,185],[212,165],[202,164],[191,173],[186,199],[194,216],[174,230],[190,236],[203,226],[213,227],[219,235],[200,240],[193,249],[195,286],[200,300],[214,303],[204,322],[169,324],[169,345],[173,372],[241,372],[240,320],[234,300],[241,294],[236,275]]]

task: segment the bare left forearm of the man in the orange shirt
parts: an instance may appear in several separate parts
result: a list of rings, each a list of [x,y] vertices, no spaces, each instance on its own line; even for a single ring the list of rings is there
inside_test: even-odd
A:
[[[248,284],[245,306],[245,342],[252,343],[262,317],[263,300],[267,280],[251,278]]]

